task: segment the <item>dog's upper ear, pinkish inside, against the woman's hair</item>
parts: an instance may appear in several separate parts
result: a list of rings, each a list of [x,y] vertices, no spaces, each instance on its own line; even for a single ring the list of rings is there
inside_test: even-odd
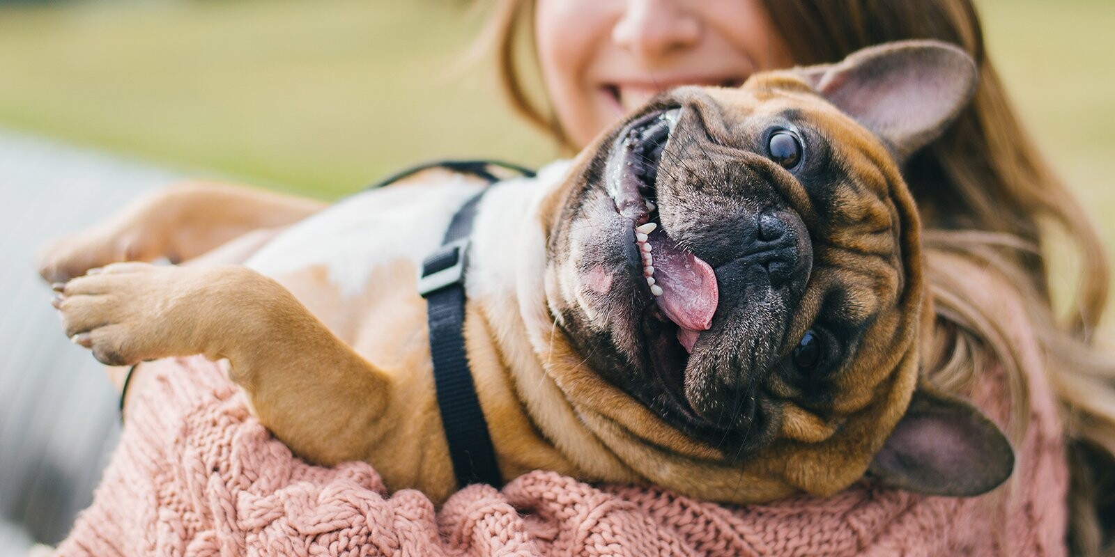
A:
[[[888,42],[798,68],[826,100],[888,141],[900,162],[937,138],[976,92],[975,60],[933,40]]]

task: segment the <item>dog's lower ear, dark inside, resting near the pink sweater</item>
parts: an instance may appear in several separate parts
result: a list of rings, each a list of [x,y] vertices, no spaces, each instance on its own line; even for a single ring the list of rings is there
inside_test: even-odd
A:
[[[867,476],[925,495],[975,496],[1010,477],[1015,451],[971,404],[919,388]]]

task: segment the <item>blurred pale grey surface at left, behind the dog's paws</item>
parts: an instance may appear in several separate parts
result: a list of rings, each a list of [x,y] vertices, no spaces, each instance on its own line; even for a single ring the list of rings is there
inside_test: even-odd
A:
[[[175,178],[0,131],[0,555],[65,537],[119,434],[116,393],[65,338],[35,252]]]

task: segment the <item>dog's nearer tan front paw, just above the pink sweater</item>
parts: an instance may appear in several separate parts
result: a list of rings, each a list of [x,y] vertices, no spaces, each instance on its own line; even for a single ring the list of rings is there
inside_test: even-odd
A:
[[[190,303],[190,293],[182,286],[191,272],[114,263],[57,284],[52,305],[61,314],[66,335],[107,365],[190,355],[203,351],[191,352],[184,342],[194,330],[182,311]]]

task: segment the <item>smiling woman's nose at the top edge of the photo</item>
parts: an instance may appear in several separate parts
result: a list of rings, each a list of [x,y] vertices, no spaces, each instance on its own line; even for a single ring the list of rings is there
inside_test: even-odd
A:
[[[707,0],[697,0],[707,1]],[[700,40],[701,22],[677,0],[628,0],[612,28],[612,41],[653,61]]]

